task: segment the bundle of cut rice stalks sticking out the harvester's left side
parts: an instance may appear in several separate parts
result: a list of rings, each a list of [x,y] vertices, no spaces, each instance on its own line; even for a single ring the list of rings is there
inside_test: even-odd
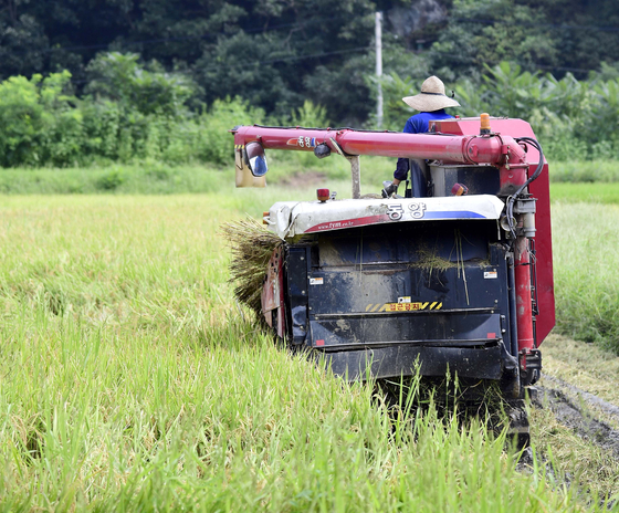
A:
[[[221,231],[232,250],[230,282],[235,283],[234,295],[262,317],[261,294],[269,260],[275,248],[284,242],[255,219],[222,224]]]

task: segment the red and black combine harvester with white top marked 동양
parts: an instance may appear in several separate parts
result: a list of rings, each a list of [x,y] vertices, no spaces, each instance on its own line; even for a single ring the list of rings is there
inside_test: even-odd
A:
[[[262,312],[291,347],[325,354],[348,379],[407,376],[418,362],[423,376],[495,380],[506,397],[535,383],[555,306],[548,169],[528,123],[232,132],[238,185],[264,179],[265,149],[352,163],[353,199],[323,192],[264,214],[285,243],[265,269]],[[422,159],[428,196],[361,198],[360,155]]]

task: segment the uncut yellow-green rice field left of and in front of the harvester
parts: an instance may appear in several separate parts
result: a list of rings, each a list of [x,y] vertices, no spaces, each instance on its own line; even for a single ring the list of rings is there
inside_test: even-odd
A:
[[[482,423],[254,331],[217,230],[279,193],[2,198],[0,507],[583,511]]]

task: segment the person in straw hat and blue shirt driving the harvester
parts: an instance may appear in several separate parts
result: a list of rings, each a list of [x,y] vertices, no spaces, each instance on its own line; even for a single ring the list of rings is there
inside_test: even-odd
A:
[[[453,94],[452,94],[453,96]],[[430,76],[421,84],[421,93],[415,96],[407,96],[402,101],[419,111],[419,114],[409,117],[405,125],[406,134],[423,134],[429,130],[431,119],[449,119],[452,115],[444,112],[445,107],[459,107],[460,104],[444,93],[444,84],[437,76]],[[412,164],[410,169],[410,180],[412,187],[412,196],[420,198],[427,195],[426,177],[418,161],[409,158],[398,158],[396,171],[394,172],[394,181],[385,181],[382,185],[382,196],[389,198],[394,192],[398,191],[400,181],[406,180],[409,171],[409,163]],[[424,163],[422,163],[424,164]]]

